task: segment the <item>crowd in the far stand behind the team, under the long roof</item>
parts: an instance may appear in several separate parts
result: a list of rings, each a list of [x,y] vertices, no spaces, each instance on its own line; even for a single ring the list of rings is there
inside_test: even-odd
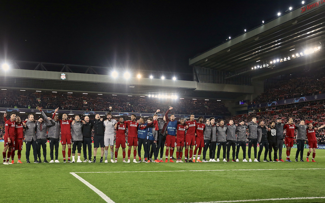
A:
[[[108,111],[113,107],[114,112],[153,113],[159,106],[162,109],[175,107],[175,114],[216,115],[228,116],[230,112],[219,101],[204,99],[168,99],[140,96],[112,96],[82,93],[52,93],[19,90],[1,90],[0,107],[6,108],[35,108],[68,109],[85,111]],[[162,112],[164,113],[164,112]]]

